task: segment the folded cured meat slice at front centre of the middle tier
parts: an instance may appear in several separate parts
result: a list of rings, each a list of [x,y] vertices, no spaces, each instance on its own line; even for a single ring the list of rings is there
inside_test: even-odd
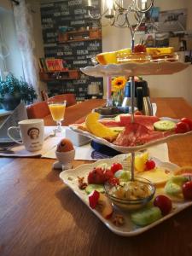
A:
[[[124,131],[119,133],[118,137],[113,143],[118,146],[131,147],[143,145],[144,143],[158,140],[162,137],[164,137],[163,132],[151,131],[144,125],[130,123],[129,125],[125,126]]]

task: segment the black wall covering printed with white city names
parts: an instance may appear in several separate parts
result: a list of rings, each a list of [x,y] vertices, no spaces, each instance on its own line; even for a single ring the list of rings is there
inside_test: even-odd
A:
[[[69,69],[79,69],[92,65],[90,59],[102,52],[102,39],[92,38],[76,40],[75,42],[59,42],[59,33],[73,31],[90,31],[100,28],[98,20],[90,19],[85,6],[86,0],[54,1],[41,3],[41,21],[44,38],[44,55],[61,58],[67,62]],[[92,0],[96,12],[100,13],[101,1]],[[68,38],[70,39],[70,38]],[[98,84],[103,93],[102,79],[91,78],[80,73],[79,79],[51,81],[48,83],[49,94],[75,93],[78,101],[86,97],[88,84]]]

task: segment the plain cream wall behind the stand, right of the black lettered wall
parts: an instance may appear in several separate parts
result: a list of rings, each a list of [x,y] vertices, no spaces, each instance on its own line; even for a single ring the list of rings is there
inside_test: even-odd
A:
[[[127,1],[131,3],[131,0]],[[190,0],[154,0],[154,6],[159,6],[160,10],[168,9],[188,9],[187,28],[192,30],[192,1]],[[138,43],[139,37],[136,37]],[[102,50],[111,51],[130,47],[131,35],[128,28],[120,29],[113,26],[103,26],[102,28]],[[165,76],[146,76],[151,96],[177,97],[182,96],[192,103],[192,66],[188,69],[173,75]],[[106,80],[105,80],[106,95]]]

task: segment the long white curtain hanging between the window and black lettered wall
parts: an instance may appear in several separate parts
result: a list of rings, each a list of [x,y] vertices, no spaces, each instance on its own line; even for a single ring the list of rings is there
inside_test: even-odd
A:
[[[26,0],[20,0],[20,4],[14,4],[15,27],[22,58],[24,79],[32,84],[38,96],[38,60],[35,55],[35,41],[33,36],[32,11]]]

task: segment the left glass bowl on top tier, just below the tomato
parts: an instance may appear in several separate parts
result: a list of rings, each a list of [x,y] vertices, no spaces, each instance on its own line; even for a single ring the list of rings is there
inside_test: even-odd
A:
[[[119,64],[129,63],[129,62],[137,62],[137,63],[145,63],[151,60],[151,56],[146,52],[139,53],[119,53],[117,55],[117,62]]]

